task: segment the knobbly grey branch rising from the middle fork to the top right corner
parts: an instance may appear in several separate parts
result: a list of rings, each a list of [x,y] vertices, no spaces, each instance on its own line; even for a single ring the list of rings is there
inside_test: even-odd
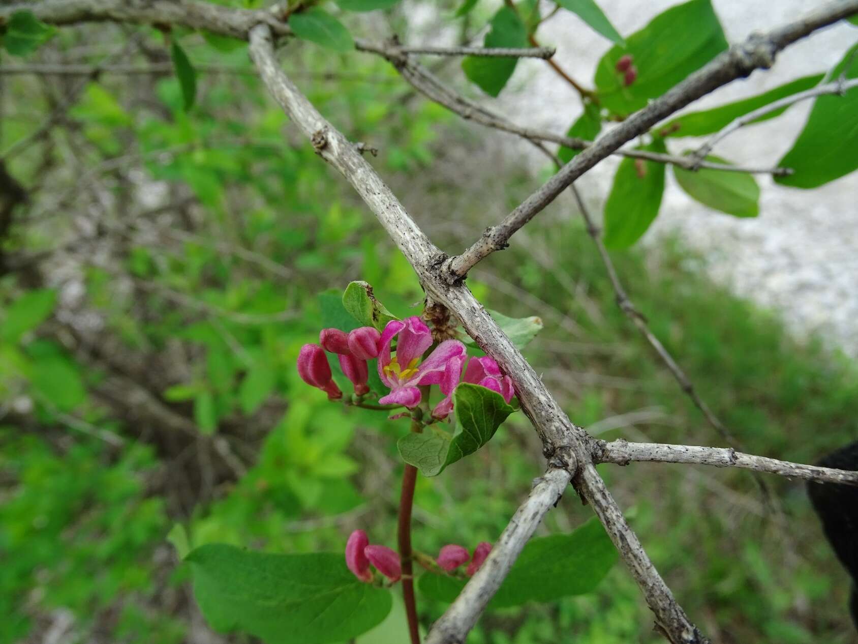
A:
[[[799,21],[770,33],[764,35],[754,33],[743,44],[732,46],[728,52],[723,52],[711,60],[702,69],[688,76],[685,81],[680,82],[666,94],[626,118],[616,128],[599,137],[593,145],[584,149],[580,155],[548,179],[545,185],[512,210],[503,222],[486,229],[480,240],[477,240],[462,255],[450,258],[445,264],[445,268],[449,271],[450,283],[461,280],[482,258],[505,248],[511,236],[551,204],[560,192],[571,185],[572,181],[619,149],[624,143],[644,134],[663,118],[667,118],[692,101],[728,82],[749,76],[753,70],[770,68],[775,62],[776,53],[784,47],[856,12],[858,12],[858,0],[837,0]]]

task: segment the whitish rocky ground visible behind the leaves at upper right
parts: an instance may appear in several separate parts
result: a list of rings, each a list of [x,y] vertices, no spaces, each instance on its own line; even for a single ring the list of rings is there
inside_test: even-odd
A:
[[[674,0],[600,0],[620,33],[636,31]],[[714,0],[730,42],[754,30],[767,30],[795,19],[821,2],[807,0]],[[629,9],[634,7],[634,9]],[[560,12],[540,30],[543,44],[557,46],[557,60],[579,82],[592,86],[595,63],[610,43],[577,19]],[[693,104],[689,111],[717,106],[798,76],[830,69],[858,40],[858,28],[845,23],[805,39],[778,57],[769,71],[757,71]],[[526,91],[522,91],[526,88]],[[499,99],[502,111],[518,122],[565,131],[581,112],[577,94],[541,61],[524,60]],[[810,104],[793,106],[779,118],[746,128],[726,139],[716,154],[737,163],[775,165],[789,149],[807,118]],[[858,114],[855,115],[858,119]],[[672,151],[695,146],[677,139]],[[520,146],[513,142],[511,145]],[[544,160],[533,157],[535,165]],[[616,161],[586,174],[579,185],[603,204]],[[737,219],[692,201],[668,173],[661,214],[644,239],[678,231],[704,253],[711,276],[734,292],[782,313],[798,337],[819,331],[847,353],[858,356],[858,173],[822,188],[804,191],[758,177],[762,188],[757,219]]]

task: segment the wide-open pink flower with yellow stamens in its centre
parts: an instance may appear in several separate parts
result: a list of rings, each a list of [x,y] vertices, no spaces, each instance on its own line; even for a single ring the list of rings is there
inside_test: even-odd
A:
[[[396,337],[396,356],[390,355],[390,343]],[[420,404],[418,385],[438,385],[444,378],[447,363],[465,355],[465,345],[458,340],[444,340],[426,360],[420,356],[432,345],[432,332],[420,318],[390,320],[378,341],[378,376],[390,393],[378,400],[381,404]]]

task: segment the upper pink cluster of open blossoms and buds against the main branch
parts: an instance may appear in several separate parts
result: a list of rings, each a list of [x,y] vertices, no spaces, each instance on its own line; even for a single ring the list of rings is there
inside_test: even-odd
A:
[[[396,341],[396,353],[393,343]],[[311,386],[328,393],[334,400],[342,392],[331,380],[325,351],[337,355],[342,373],[352,381],[358,395],[369,393],[367,360],[378,357],[378,377],[390,393],[380,404],[402,404],[414,409],[423,394],[419,386],[438,385],[444,398],[435,405],[432,416],[443,419],[453,409],[453,390],[462,382],[481,385],[498,392],[509,403],[513,396],[512,380],[501,374],[498,363],[488,356],[468,361],[465,345],[458,340],[444,340],[421,361],[432,346],[432,331],[417,316],[390,320],[379,333],[372,326],[362,326],[348,333],[323,329],[319,344],[305,344],[298,356],[298,373]],[[467,367],[466,367],[467,362]]]

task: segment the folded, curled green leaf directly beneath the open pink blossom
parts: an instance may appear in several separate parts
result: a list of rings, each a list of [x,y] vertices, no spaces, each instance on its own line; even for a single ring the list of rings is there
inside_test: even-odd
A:
[[[484,386],[462,382],[453,391],[456,434],[429,425],[423,434],[406,434],[397,443],[402,459],[426,477],[436,477],[447,465],[476,452],[492,439],[513,411],[503,396]]]

